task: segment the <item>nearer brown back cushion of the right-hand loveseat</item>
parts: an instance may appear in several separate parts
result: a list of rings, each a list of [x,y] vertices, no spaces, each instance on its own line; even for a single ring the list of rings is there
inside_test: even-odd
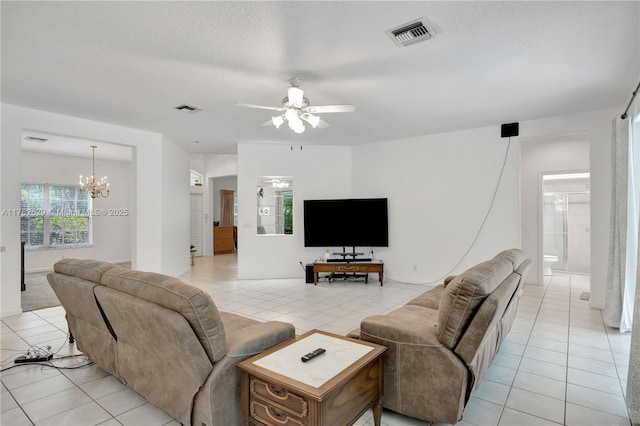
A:
[[[494,257],[458,275],[443,291],[438,309],[438,338],[454,349],[478,306],[513,272],[511,260]]]

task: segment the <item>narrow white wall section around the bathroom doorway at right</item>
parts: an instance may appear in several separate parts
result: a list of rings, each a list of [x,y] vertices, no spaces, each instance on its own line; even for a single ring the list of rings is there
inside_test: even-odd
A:
[[[520,156],[522,249],[533,266],[527,282],[542,284],[542,173],[589,170],[589,137],[586,133],[532,138],[522,141]]]

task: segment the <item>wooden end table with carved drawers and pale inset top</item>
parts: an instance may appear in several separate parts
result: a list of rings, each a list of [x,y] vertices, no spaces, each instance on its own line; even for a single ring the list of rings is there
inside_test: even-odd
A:
[[[319,347],[326,352],[301,361]],[[379,426],[386,350],[311,330],[240,362],[244,424],[351,425],[372,408]]]

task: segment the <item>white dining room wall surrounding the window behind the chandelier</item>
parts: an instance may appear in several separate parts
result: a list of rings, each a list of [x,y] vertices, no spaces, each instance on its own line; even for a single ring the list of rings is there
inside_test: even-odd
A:
[[[131,208],[131,164],[96,159],[96,170],[109,176],[111,192],[108,198],[93,200],[93,209]],[[78,184],[78,176],[91,172],[91,159],[61,155],[22,152],[22,183]],[[85,248],[28,250],[25,252],[26,272],[52,270],[63,257],[100,259],[107,262],[131,261],[131,217],[93,216],[93,244]]]

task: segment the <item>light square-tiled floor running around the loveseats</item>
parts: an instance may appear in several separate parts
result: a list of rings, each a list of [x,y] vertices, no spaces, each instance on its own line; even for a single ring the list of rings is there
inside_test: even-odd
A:
[[[362,318],[401,306],[428,286],[375,280],[237,280],[235,255],[197,258],[182,279],[208,291],[222,310],[258,320],[290,321],[296,331],[345,334]],[[546,285],[527,285],[517,320],[458,424],[630,425],[624,403],[630,335],[605,327],[599,310],[580,295],[589,278],[555,273]],[[2,369],[29,345],[56,357],[77,354],[66,342],[61,307],[2,318]],[[83,360],[56,360],[74,367]],[[18,366],[2,371],[2,425],[177,425],[178,423],[92,365],[56,370]],[[385,410],[387,426],[425,422]],[[372,425],[366,413],[356,425]]]

